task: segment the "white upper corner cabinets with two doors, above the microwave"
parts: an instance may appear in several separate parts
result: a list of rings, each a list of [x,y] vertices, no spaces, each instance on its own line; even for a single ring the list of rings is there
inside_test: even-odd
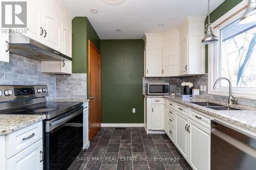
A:
[[[145,34],[146,77],[179,76],[179,31]]]

